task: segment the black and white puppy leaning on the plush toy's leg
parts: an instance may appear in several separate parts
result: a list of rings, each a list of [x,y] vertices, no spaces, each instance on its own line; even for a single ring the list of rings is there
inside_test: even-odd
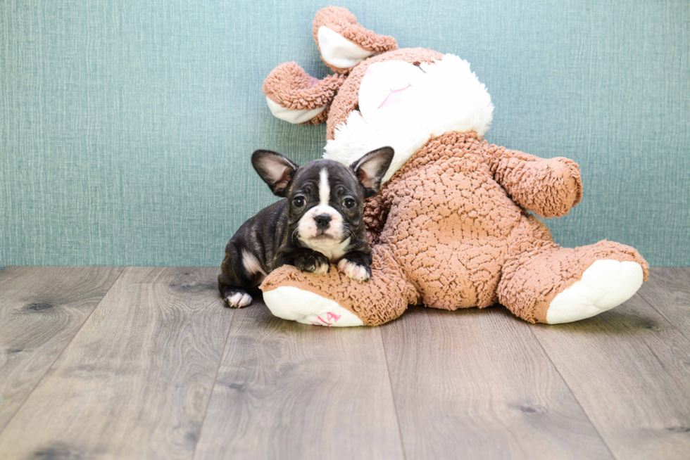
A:
[[[351,279],[371,277],[371,249],[363,215],[393,160],[379,148],[350,167],[315,160],[298,167],[280,153],[258,150],[251,164],[276,196],[286,197],[244,222],[225,247],[218,289],[230,307],[251,303],[247,292],[272,270],[294,265],[324,274],[331,262]]]

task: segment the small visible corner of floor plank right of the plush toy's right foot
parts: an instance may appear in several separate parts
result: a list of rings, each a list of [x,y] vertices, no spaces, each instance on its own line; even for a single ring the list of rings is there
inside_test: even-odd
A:
[[[640,295],[690,338],[690,267],[649,269]]]

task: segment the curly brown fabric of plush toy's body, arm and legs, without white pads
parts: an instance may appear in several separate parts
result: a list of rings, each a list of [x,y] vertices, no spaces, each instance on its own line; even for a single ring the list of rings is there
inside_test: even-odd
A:
[[[520,171],[519,184],[513,183],[517,176],[498,174],[506,161]],[[551,186],[537,186],[542,180]],[[370,326],[418,302],[449,310],[501,302],[527,321],[544,322],[549,302],[595,260],[638,262],[646,279],[647,263],[629,246],[601,241],[560,248],[501,182],[513,184],[508,188],[519,199],[547,215],[567,212],[579,197],[579,170],[570,160],[506,151],[474,132],[446,133],[431,139],[366,203],[375,254],[369,283],[348,279],[334,267],[326,276],[282,267],[261,289],[308,290]],[[521,195],[529,184],[539,190],[536,198]]]

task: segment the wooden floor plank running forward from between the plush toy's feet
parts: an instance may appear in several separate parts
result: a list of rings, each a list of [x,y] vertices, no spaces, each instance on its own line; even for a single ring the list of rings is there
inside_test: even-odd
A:
[[[611,458],[530,327],[503,307],[382,326],[406,458]]]

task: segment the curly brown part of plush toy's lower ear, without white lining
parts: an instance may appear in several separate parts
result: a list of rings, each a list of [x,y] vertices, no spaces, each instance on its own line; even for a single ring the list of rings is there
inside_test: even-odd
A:
[[[263,82],[263,94],[289,110],[313,110],[326,106],[306,124],[319,124],[328,117],[328,108],[345,80],[344,75],[324,79],[311,77],[296,62],[283,63],[273,69]]]

